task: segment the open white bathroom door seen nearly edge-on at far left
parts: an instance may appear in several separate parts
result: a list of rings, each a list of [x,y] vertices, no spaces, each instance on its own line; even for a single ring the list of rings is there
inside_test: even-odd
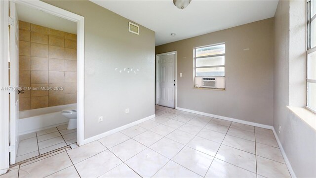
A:
[[[15,163],[19,134],[19,21],[15,3],[10,1],[10,164]]]

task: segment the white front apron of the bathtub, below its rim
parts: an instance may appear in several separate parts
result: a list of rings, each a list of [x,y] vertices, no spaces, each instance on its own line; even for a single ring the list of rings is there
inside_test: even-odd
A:
[[[67,124],[68,118],[64,117],[61,112],[42,114],[34,117],[19,119],[19,135],[29,134],[44,129]]]

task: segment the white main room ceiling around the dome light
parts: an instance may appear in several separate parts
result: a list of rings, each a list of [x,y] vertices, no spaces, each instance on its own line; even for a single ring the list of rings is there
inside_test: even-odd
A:
[[[172,0],[91,1],[155,31],[156,45],[274,17],[278,3],[278,0],[192,0],[182,10]]]

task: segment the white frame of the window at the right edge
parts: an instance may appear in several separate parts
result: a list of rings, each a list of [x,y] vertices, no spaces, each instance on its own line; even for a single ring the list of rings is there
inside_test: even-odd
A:
[[[309,79],[308,78],[308,56],[309,54],[313,53],[316,51],[316,46],[314,46],[313,48],[311,48],[311,37],[312,37],[312,34],[311,34],[311,24],[312,24],[312,21],[316,20],[316,14],[311,17],[311,0],[307,0],[307,6],[306,6],[307,10],[307,23],[306,23],[306,32],[307,32],[307,39],[306,39],[306,47],[307,47],[307,51],[306,51],[306,108],[313,111],[314,113],[316,113],[316,110],[309,107],[308,106],[308,102],[309,102],[309,99],[310,99],[310,96],[309,96],[309,93],[308,93],[308,83],[316,83],[316,80],[315,79]]]

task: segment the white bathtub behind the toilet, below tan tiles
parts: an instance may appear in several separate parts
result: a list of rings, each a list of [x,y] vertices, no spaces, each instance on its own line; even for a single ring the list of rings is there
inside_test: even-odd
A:
[[[66,104],[39,109],[31,109],[19,112],[19,135],[29,134],[44,129],[68,124],[69,119],[61,114],[61,111],[77,104]]]

